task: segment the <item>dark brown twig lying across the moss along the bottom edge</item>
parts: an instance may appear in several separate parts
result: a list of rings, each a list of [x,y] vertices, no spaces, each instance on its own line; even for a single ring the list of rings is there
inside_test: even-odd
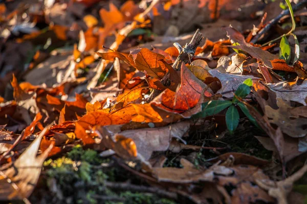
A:
[[[162,197],[177,199],[177,193],[168,192],[157,187],[138,186],[130,183],[105,182],[107,188],[153,193]]]

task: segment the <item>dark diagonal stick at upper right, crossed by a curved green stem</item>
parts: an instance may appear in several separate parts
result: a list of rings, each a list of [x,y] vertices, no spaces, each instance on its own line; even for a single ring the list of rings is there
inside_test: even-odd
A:
[[[293,12],[303,8],[307,6],[307,0],[303,0],[299,3],[297,3],[294,7],[292,7],[292,10]],[[270,20],[267,25],[257,34],[255,35],[255,37],[253,37],[253,39],[251,40],[252,43],[256,43],[258,41],[258,39],[264,35],[265,33],[267,33],[273,25],[275,25],[279,20],[280,18],[282,18],[283,16],[286,16],[290,14],[290,10],[287,9],[287,10],[283,10],[277,17],[273,18],[272,20]]]

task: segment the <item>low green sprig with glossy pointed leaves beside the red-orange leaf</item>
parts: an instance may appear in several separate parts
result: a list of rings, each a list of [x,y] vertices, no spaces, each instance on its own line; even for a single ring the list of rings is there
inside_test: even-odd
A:
[[[250,92],[250,86],[253,85],[252,79],[247,79],[241,84],[234,93],[232,101],[230,100],[210,100],[202,104],[202,111],[193,115],[194,118],[207,117],[220,113],[228,108],[226,112],[226,125],[230,134],[233,134],[239,123],[239,112],[236,107],[239,107],[248,119],[258,126],[256,120],[251,116],[247,107],[241,102],[242,98],[246,97]]]

